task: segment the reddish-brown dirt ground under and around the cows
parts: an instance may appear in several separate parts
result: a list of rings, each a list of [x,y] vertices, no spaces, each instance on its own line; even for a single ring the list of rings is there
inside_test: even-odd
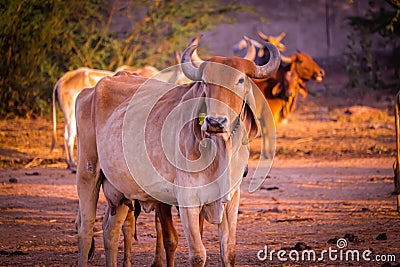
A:
[[[400,214],[392,195],[395,130],[388,109],[391,102],[390,97],[379,101],[376,95],[367,97],[372,99],[368,107],[349,105],[334,96],[328,105],[324,97],[309,96],[278,127],[277,153],[268,179],[253,194],[247,191],[249,178],[242,184],[238,266],[400,264]],[[78,198],[75,174],[65,169],[62,127],[61,122],[58,146],[49,153],[49,120],[0,121],[0,266],[77,263],[74,220]],[[253,148],[259,145],[256,140]],[[249,176],[257,156],[252,154]],[[93,266],[105,264],[101,235],[105,207],[101,196]],[[153,217],[153,213],[139,217],[133,266],[151,264]],[[179,233],[176,266],[188,266],[186,240],[176,212],[174,218]],[[220,266],[217,226],[206,223],[204,233],[206,265]],[[345,238],[347,247],[338,247],[340,238]],[[265,253],[260,250],[265,246],[268,257],[262,260]],[[122,249],[121,237],[121,261]],[[315,251],[321,260],[301,260],[304,249]],[[337,252],[331,257],[323,254],[330,249]],[[276,252],[270,259],[272,250]],[[286,252],[283,258],[288,261],[278,258],[279,250]],[[359,251],[360,259],[346,259],[349,250]],[[295,257],[296,252],[299,260],[290,260],[289,253]]]

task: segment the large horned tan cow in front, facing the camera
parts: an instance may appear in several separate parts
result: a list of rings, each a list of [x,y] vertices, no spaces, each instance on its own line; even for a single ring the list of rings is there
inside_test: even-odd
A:
[[[197,67],[191,63],[197,45],[191,45],[182,55],[182,69],[196,82],[171,86],[122,72],[105,77],[79,94],[79,266],[87,265],[91,253],[104,179],[124,198],[139,200],[146,212],[157,203],[179,206],[192,266],[204,266],[206,261],[200,214],[218,224],[222,262],[225,266],[234,264],[239,185],[249,158],[248,142],[260,131],[250,78],[271,76],[280,62],[276,47],[268,48],[271,59],[263,66],[247,59],[215,56]],[[151,99],[156,101],[146,102]],[[131,105],[132,101],[143,105]],[[188,112],[174,113],[185,107]],[[200,120],[201,113],[205,114],[204,120]],[[163,131],[164,127],[168,130]],[[176,156],[172,158],[176,162],[171,162],[165,149]],[[115,212],[109,220],[124,217],[120,209]],[[172,218],[160,218],[169,220],[160,219],[164,245],[176,243],[173,233],[165,231],[166,225],[172,225]],[[110,265],[116,262],[117,244],[113,240],[119,236],[122,223],[115,220],[105,228]]]

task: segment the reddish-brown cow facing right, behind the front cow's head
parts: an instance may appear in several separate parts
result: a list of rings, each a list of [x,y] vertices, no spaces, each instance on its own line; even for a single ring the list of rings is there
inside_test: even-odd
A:
[[[266,35],[261,32],[259,34],[266,38]],[[255,47],[250,45],[248,49],[253,50],[249,54],[252,54],[250,57],[254,58],[253,60],[256,62],[257,53]],[[301,94],[303,99],[307,96],[306,83],[309,80],[322,82],[324,77],[325,70],[318,66],[310,55],[298,52],[290,57],[281,55],[279,69],[270,78],[253,79],[253,81],[260,88],[261,92],[263,92],[273,114],[274,124],[277,126],[294,111],[298,95]],[[266,108],[263,106],[265,101],[260,100],[259,102],[257,115],[260,119],[263,133],[261,157],[272,158],[274,148],[268,144],[267,136],[273,134],[272,131],[274,130],[267,129],[267,126],[271,125],[271,121],[268,114],[265,113]]]

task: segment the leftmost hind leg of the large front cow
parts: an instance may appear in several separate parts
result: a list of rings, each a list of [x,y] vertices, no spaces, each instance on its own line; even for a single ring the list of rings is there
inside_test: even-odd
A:
[[[93,253],[93,226],[96,219],[97,201],[100,191],[100,170],[96,160],[80,164],[76,183],[79,196],[78,226],[78,265],[87,266],[89,255]]]

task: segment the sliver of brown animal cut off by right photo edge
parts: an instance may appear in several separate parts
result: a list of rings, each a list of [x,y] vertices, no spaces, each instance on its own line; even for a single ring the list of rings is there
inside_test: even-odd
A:
[[[397,195],[397,211],[400,212],[400,91],[397,92],[394,102],[394,123],[396,130],[396,159],[393,163],[394,172],[394,192]]]

